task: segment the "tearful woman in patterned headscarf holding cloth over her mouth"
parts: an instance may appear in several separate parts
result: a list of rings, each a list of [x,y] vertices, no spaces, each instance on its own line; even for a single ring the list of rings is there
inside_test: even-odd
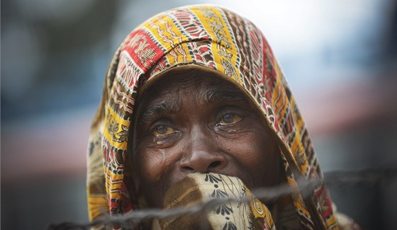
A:
[[[276,199],[249,196],[201,218],[140,227],[341,227],[267,41],[250,21],[216,6],[160,13],[125,38],[108,68],[88,165],[90,219],[101,209],[169,209],[288,185]]]

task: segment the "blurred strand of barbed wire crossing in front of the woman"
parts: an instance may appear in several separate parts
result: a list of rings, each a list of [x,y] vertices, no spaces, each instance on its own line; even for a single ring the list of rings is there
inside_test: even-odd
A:
[[[397,168],[372,168],[362,171],[335,171],[324,173],[324,182],[328,187],[341,187],[347,185],[366,185],[372,186],[382,180],[390,180],[397,177]],[[311,194],[311,191],[322,181],[306,180],[298,181],[300,192],[303,197]],[[287,184],[275,186],[272,188],[259,188],[252,190],[254,197],[259,200],[274,200],[277,197],[291,194],[291,187]],[[138,224],[144,220],[157,218],[168,219],[179,215],[198,214],[206,212],[208,209],[213,209],[226,202],[247,202],[252,197],[242,197],[240,199],[231,198],[217,198],[205,203],[192,205],[190,207],[177,207],[173,209],[141,209],[128,212],[126,214],[118,214],[110,216],[106,211],[103,212],[104,217],[95,219],[92,222],[76,223],[76,222],[63,222],[60,224],[51,224],[48,230],[67,230],[67,229],[89,229],[91,226],[126,226],[127,229],[131,228],[131,224]]]

